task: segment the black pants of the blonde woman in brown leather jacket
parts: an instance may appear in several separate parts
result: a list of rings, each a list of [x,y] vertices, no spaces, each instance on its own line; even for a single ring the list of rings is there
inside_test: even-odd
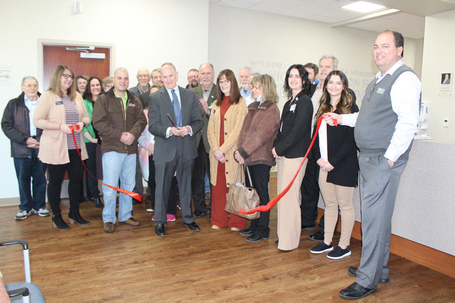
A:
[[[253,186],[250,184],[248,178],[248,172],[245,168],[245,184],[247,187],[253,187],[256,189],[257,194],[259,195],[259,205],[267,205],[270,201],[270,196],[268,195],[268,183],[270,181],[270,168],[271,166],[265,164],[256,164],[248,166],[250,171],[251,181]],[[270,233],[270,228],[268,227],[268,222],[270,221],[270,211],[260,213],[260,217],[254,220],[251,220],[251,225],[249,229],[258,236],[262,238],[268,238]]]

